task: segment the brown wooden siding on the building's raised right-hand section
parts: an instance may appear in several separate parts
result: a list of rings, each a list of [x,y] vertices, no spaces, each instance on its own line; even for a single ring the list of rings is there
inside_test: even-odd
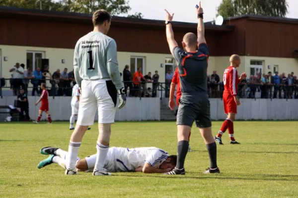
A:
[[[294,57],[298,49],[298,24],[247,20],[246,54],[251,56]]]

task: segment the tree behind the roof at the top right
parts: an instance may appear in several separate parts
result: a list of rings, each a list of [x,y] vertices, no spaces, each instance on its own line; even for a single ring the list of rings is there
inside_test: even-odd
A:
[[[285,17],[288,7],[287,0],[223,0],[217,10],[224,18],[242,14]]]

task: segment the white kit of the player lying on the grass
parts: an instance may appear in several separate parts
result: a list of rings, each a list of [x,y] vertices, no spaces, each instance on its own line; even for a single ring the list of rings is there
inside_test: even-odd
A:
[[[109,148],[104,168],[109,172],[129,172],[149,163],[155,168],[168,158],[168,153],[156,147],[143,148]],[[89,171],[93,171],[96,154],[85,158]]]

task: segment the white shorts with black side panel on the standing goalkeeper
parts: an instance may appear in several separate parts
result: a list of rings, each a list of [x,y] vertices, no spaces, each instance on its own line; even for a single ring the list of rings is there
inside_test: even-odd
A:
[[[81,97],[76,124],[94,124],[96,109],[98,123],[114,123],[118,93],[111,80],[82,80]]]

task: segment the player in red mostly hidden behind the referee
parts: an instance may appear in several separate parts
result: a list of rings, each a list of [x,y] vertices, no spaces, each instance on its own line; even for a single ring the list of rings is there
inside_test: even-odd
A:
[[[177,105],[179,106],[179,99],[181,97],[181,90],[180,90],[180,80],[179,80],[179,71],[178,71],[178,67],[176,68],[173,78],[172,78],[172,82],[171,82],[171,87],[170,87],[170,101],[169,101],[169,107],[171,110],[174,110],[175,108],[175,101],[174,101],[174,93],[175,93],[175,87],[177,85],[177,90],[176,90],[176,102]],[[190,133],[189,133],[189,137],[188,140],[190,140]],[[188,152],[191,152],[191,148],[190,146],[188,146]]]

